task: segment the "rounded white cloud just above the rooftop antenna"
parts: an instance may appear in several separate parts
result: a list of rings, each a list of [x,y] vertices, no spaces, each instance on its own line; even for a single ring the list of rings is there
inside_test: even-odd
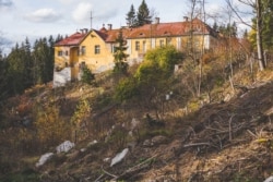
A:
[[[90,20],[92,4],[88,2],[81,2],[72,13],[72,17],[76,23],[84,23]]]

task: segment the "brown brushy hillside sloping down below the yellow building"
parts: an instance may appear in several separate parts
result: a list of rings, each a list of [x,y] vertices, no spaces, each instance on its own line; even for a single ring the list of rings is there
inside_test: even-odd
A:
[[[96,78],[96,86],[28,89],[2,106],[0,181],[264,181],[273,169],[273,73],[270,66],[249,82],[244,72],[236,72],[233,94],[227,82],[221,96],[213,95],[219,99],[198,108],[190,99],[189,107],[180,105],[185,93],[175,83],[173,99],[156,105],[163,107],[159,118],[138,100],[112,102],[114,81],[107,74]],[[86,99],[91,110],[81,102]],[[54,114],[56,106],[60,117]],[[39,108],[46,112],[36,121],[48,129],[44,134],[55,130],[56,122],[46,124],[50,117],[63,124],[57,134],[39,135],[34,122]],[[75,126],[64,126],[75,116],[85,125],[82,135],[71,136]],[[56,146],[67,139],[75,146],[57,154]],[[124,158],[111,165],[121,151]],[[35,167],[46,153],[52,158]]]

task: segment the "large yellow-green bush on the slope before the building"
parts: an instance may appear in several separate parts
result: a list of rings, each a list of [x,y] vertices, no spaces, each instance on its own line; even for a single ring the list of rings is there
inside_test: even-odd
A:
[[[174,47],[162,47],[146,52],[132,77],[119,82],[116,88],[118,100],[128,100],[134,96],[154,98],[171,83],[175,64],[182,59],[182,54]]]

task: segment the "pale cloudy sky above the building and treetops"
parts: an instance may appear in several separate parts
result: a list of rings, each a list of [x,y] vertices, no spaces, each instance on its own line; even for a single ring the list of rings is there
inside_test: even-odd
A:
[[[99,29],[126,25],[131,4],[138,11],[142,0],[0,0],[0,46],[8,52],[27,37],[31,43],[52,35],[71,35],[81,28]],[[145,0],[161,22],[179,22],[189,12],[189,0]],[[225,0],[206,0],[205,11],[217,14]],[[91,13],[92,12],[92,13]],[[91,21],[92,14],[92,21]],[[213,22],[215,20],[211,20]]]

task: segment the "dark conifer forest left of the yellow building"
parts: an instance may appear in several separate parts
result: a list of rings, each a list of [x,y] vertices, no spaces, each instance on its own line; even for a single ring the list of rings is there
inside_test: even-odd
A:
[[[32,47],[26,38],[16,44],[7,58],[0,53],[0,94],[1,97],[22,94],[35,84],[45,84],[54,76],[52,36],[40,38]]]

